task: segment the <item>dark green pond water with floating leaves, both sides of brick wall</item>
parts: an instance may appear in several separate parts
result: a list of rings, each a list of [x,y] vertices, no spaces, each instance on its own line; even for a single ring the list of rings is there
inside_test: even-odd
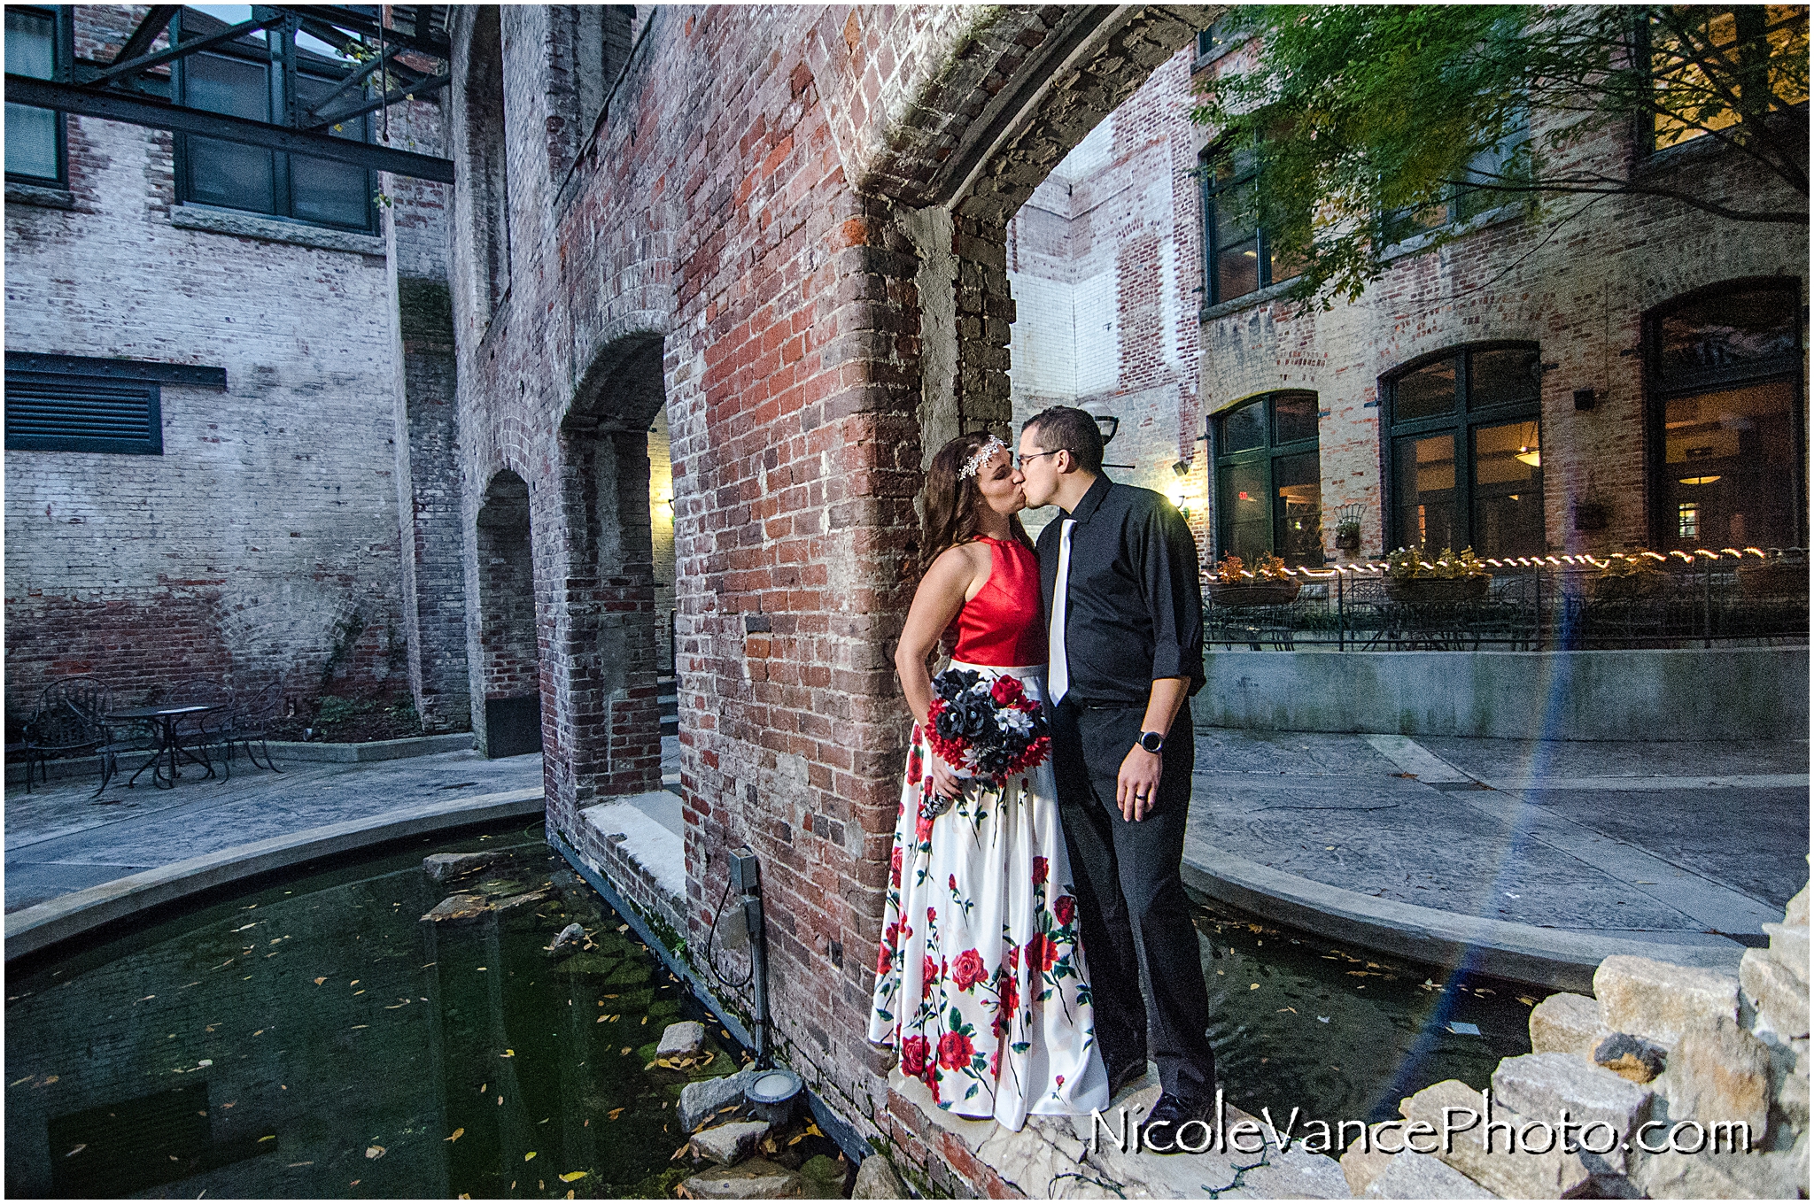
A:
[[[502,856],[421,870],[468,850]],[[544,894],[421,921],[455,890]],[[591,948],[546,952],[575,921]],[[1529,1048],[1538,992],[1201,899],[1195,921],[1230,1102],[1281,1124],[1382,1119]],[[303,867],[27,963],[5,994],[9,1195],[671,1199],[698,1170],[673,1159],[680,1088],[747,1059],[541,825]],[[706,1023],[711,1061],[651,1068],[677,1019]],[[769,1157],[847,1189],[816,1131]]]

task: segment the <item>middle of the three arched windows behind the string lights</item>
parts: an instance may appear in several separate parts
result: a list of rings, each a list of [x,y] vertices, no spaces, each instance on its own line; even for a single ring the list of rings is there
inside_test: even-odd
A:
[[[1540,379],[1536,346],[1489,343],[1382,381],[1388,544],[1544,551]]]

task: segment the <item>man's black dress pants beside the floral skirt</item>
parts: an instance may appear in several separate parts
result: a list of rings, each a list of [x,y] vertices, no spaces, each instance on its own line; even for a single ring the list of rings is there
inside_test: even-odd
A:
[[[1146,707],[1088,705],[1067,696],[1052,711],[1052,771],[1058,814],[1078,887],[1083,956],[1090,966],[1096,1041],[1110,1081],[1148,1050],[1168,1095],[1204,1101],[1215,1092],[1210,999],[1197,930],[1179,867],[1195,762],[1190,704],[1165,740],[1156,807],[1128,821],[1116,807],[1121,762],[1139,740]]]

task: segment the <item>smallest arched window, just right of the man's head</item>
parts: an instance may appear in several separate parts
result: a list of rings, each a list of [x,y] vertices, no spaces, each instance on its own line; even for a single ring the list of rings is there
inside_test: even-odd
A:
[[[1317,395],[1264,393],[1210,419],[1219,555],[1322,564]]]

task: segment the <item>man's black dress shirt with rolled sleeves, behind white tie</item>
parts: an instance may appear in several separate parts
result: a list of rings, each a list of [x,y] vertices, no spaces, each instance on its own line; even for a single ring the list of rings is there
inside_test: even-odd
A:
[[[1152,682],[1168,676],[1190,678],[1192,694],[1203,689],[1203,591],[1183,515],[1159,493],[1108,477],[1059,515],[1039,531],[1039,597],[1050,620],[1059,535],[1065,519],[1076,519],[1065,602],[1068,694],[1146,705]]]

